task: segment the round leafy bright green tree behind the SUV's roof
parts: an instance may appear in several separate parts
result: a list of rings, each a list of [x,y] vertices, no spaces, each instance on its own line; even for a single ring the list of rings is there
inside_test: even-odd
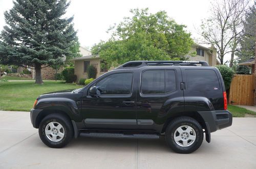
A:
[[[136,60],[186,60],[193,40],[185,25],[177,24],[166,12],[148,13],[148,9],[131,10],[132,17],[125,17],[111,27],[112,38],[92,47],[107,67]]]

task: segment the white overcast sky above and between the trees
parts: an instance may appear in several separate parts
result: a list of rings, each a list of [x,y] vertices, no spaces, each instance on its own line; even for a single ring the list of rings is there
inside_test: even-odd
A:
[[[111,25],[119,23],[123,17],[131,16],[130,9],[149,8],[150,13],[166,11],[179,24],[187,25],[187,32],[198,39],[197,29],[201,20],[209,13],[209,0],[71,0],[67,16],[74,15],[74,27],[78,31],[80,45],[92,47],[100,40],[106,41],[106,33]],[[0,31],[5,25],[4,11],[12,8],[12,0],[0,0]]]

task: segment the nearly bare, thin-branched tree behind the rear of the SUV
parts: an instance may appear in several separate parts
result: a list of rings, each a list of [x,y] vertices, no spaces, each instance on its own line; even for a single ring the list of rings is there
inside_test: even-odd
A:
[[[201,25],[203,43],[217,49],[221,64],[224,56],[231,52],[230,67],[233,65],[248,3],[248,0],[216,0],[211,4],[210,17]]]

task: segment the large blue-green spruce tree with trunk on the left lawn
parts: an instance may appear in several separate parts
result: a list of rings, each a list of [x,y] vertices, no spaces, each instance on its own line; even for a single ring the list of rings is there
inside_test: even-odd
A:
[[[42,65],[57,65],[69,57],[77,39],[73,17],[65,18],[66,0],[16,0],[5,11],[0,35],[0,63],[35,68],[35,83],[43,83]]]

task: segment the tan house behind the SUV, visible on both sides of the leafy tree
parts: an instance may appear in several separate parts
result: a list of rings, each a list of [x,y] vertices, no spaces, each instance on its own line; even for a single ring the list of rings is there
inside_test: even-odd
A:
[[[77,81],[80,78],[88,78],[87,75],[87,68],[89,65],[93,65],[97,70],[96,77],[99,77],[100,75],[104,74],[105,72],[108,72],[106,69],[102,69],[100,67],[101,61],[99,58],[99,55],[92,55],[88,50],[80,50],[84,51],[85,53],[82,54],[83,56],[80,58],[74,58],[70,61],[74,62],[75,67],[75,75],[77,76]],[[199,44],[193,45],[193,48],[190,52],[197,52],[196,57],[189,57],[190,61],[206,61],[210,66],[218,65],[219,62],[217,61],[216,55],[216,49],[215,48],[207,48],[204,46],[201,46]]]

